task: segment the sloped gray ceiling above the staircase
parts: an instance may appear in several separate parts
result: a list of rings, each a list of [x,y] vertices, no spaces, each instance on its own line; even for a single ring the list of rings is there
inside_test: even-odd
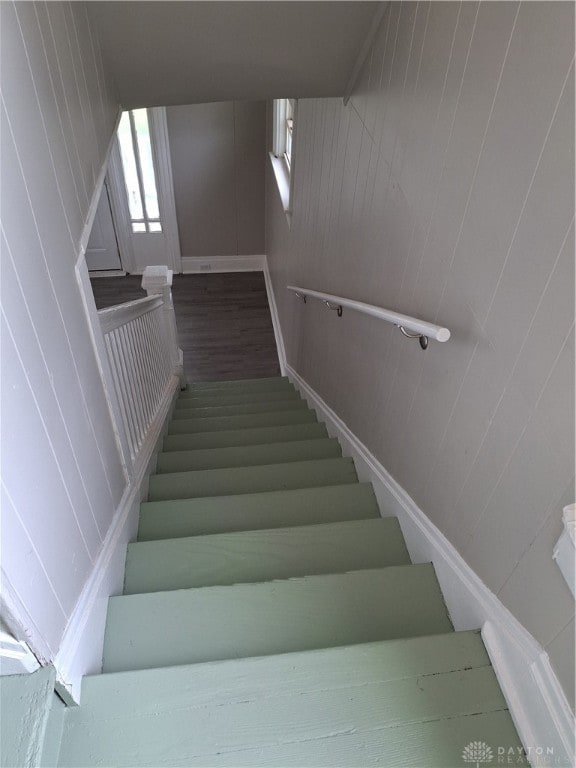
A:
[[[341,96],[377,2],[90,2],[125,109]]]

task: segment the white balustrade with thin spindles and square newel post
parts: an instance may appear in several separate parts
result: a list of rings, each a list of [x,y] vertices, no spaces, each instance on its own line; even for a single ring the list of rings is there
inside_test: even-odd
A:
[[[171,284],[167,267],[147,267],[142,287],[148,296],[98,312],[117,404],[117,428],[132,466],[173,391],[174,376],[183,381]]]

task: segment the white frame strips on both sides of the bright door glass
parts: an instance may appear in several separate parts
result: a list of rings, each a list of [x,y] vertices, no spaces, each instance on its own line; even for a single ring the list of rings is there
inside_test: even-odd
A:
[[[166,257],[163,261],[174,272],[182,271],[182,256],[180,253],[180,237],[176,219],[176,201],[174,199],[174,181],[172,178],[172,161],[170,141],[168,137],[168,122],[165,107],[148,108],[150,124],[150,140],[154,167],[156,170],[156,186],[158,189],[158,205],[162,220],[163,234],[166,242]],[[114,140],[110,153],[107,178],[109,181],[110,207],[112,219],[118,238],[120,261],[122,269],[132,274],[141,274],[142,268],[136,263],[132,246],[132,227],[130,211],[126,197],[126,185],[122,170],[122,159],[117,139]]]

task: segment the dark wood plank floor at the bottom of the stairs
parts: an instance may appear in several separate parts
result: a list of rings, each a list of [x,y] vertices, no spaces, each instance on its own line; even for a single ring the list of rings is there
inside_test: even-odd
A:
[[[98,309],[141,299],[142,278],[94,278]],[[172,297],[189,382],[279,376],[261,272],[174,275]]]

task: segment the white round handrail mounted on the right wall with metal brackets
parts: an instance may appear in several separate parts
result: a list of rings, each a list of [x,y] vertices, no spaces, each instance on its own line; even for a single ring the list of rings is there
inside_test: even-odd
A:
[[[380,320],[386,320],[386,322],[392,323],[399,328],[404,336],[419,339],[422,349],[426,349],[428,346],[429,338],[434,339],[435,341],[448,341],[450,338],[450,331],[448,328],[442,328],[439,325],[429,323],[426,320],[420,320],[417,317],[403,315],[400,312],[377,307],[374,304],[365,304],[363,301],[355,301],[354,299],[345,299],[342,296],[334,296],[331,293],[312,291],[309,288],[300,288],[296,285],[289,285],[287,287],[289,291],[293,291],[296,296],[303,299],[304,302],[306,301],[307,296],[319,299],[324,302],[328,309],[336,310],[339,317],[342,315],[343,307],[347,307],[356,312],[362,312],[365,315],[372,315],[372,317],[378,317]]]

